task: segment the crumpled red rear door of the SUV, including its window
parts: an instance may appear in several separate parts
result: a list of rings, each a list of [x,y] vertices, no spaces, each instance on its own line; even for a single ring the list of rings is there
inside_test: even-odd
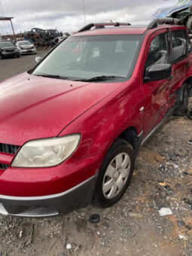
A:
[[[170,31],[172,78],[169,81],[169,108],[175,103],[175,91],[181,87],[189,69],[187,58],[187,31],[174,29]]]

